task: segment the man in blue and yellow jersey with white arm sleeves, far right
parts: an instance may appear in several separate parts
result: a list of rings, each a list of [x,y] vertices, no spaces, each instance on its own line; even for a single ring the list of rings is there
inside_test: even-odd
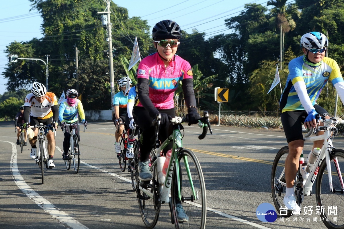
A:
[[[283,203],[288,210],[297,211],[300,207],[294,196],[293,183],[303,149],[300,124],[309,128],[316,127],[316,114],[327,113],[316,100],[328,80],[336,88],[342,102],[344,101],[344,81],[340,69],[336,61],[325,57],[329,43],[327,37],[319,32],[310,32],[301,37],[300,43],[303,55],[289,62],[289,75],[280,100],[281,121],[289,146],[285,162],[287,189]],[[319,131],[318,135],[320,134],[323,131]],[[322,145],[323,140],[315,141],[312,149],[321,148]],[[307,159],[305,162],[308,162]]]

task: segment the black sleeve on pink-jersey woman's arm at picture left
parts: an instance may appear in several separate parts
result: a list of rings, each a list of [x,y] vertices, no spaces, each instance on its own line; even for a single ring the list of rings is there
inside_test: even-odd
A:
[[[157,108],[153,105],[152,101],[149,98],[149,84],[148,79],[144,78],[138,78],[137,79],[138,84],[138,94],[139,94],[139,100],[143,107],[149,112],[149,116],[152,118],[155,118],[155,115],[159,112]]]

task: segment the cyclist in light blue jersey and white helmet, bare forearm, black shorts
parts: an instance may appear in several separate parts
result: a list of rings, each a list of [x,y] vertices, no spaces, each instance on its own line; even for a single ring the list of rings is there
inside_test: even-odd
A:
[[[128,92],[126,92],[126,84],[127,84],[128,78],[123,77],[120,80],[118,80],[118,85],[121,89],[120,92],[116,93],[114,95],[114,100],[113,100],[113,106],[114,106],[114,115],[112,116],[112,121],[114,121],[114,124],[116,126],[116,131],[115,131],[115,151],[117,155],[121,153],[121,145],[120,145],[120,140],[122,136],[123,129],[125,128],[125,125],[120,125],[119,126],[119,131],[117,133],[119,121],[120,122],[125,122],[126,120],[126,114],[127,114],[127,103],[128,103]],[[131,79],[129,78],[129,83],[131,87]]]

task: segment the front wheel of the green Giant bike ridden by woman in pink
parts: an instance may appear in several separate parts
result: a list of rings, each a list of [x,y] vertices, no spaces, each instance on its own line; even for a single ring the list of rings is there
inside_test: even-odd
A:
[[[182,149],[179,152],[178,161],[180,169],[180,199],[178,196],[178,184],[176,182],[178,170],[176,167],[173,170],[171,187],[171,204],[175,228],[203,229],[205,228],[207,216],[207,201],[200,162],[198,162],[195,154],[188,149]],[[190,171],[190,179],[187,174],[188,170]]]

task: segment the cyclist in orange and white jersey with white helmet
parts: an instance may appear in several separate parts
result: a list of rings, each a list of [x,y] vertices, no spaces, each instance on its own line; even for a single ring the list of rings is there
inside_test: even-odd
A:
[[[29,119],[30,118],[30,119]],[[53,123],[55,129],[57,128],[58,119],[58,105],[56,95],[52,92],[46,92],[46,88],[42,83],[34,82],[32,84],[31,93],[26,95],[24,103],[24,122],[26,125],[48,125]],[[29,123],[30,120],[30,123]],[[38,129],[33,128],[34,137],[29,142],[31,144],[30,158],[36,158],[36,141]],[[46,135],[48,140],[48,167],[54,168],[53,161],[55,153],[55,136],[53,131],[49,130]]]

